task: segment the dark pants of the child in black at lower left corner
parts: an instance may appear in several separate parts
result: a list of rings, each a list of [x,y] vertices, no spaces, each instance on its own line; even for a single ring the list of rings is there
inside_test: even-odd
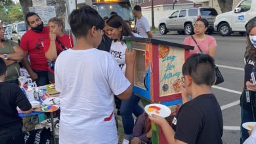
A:
[[[24,144],[24,134],[22,130],[14,130],[5,135],[0,135],[1,144]]]

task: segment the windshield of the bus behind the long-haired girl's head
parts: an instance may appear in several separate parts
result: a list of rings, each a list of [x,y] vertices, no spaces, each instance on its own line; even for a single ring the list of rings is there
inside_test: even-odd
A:
[[[130,3],[97,3],[94,4],[93,7],[102,18],[104,16],[109,17],[111,12],[117,12],[123,20],[134,20]]]

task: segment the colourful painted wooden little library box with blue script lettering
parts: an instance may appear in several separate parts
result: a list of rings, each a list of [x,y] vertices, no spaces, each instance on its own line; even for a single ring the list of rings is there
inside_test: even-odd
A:
[[[133,92],[143,105],[161,103],[171,109],[173,115],[182,103],[179,90],[182,84],[182,65],[194,46],[170,43],[156,39],[124,37],[127,48],[136,52]],[[160,127],[152,126],[152,144],[167,143]]]

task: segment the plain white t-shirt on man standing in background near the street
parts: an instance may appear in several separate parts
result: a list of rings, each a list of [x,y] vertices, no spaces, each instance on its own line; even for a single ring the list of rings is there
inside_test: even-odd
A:
[[[150,26],[148,24],[148,20],[146,20],[144,16],[142,16],[140,19],[137,19],[136,28],[139,35],[148,38],[147,32],[150,31]]]

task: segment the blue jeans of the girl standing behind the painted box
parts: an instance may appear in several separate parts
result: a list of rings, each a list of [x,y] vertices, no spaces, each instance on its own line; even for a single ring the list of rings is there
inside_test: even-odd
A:
[[[125,134],[127,135],[133,134],[133,114],[136,117],[139,117],[139,115],[144,112],[144,110],[138,105],[139,101],[140,98],[134,93],[131,94],[131,97],[129,99],[121,101],[120,113],[123,120],[123,129],[125,130]]]

